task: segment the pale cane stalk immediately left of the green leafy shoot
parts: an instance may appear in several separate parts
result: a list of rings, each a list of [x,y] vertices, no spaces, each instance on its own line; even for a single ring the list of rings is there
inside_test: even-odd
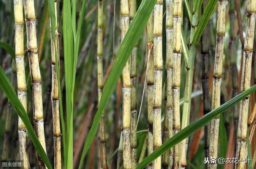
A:
[[[182,0],[174,0],[173,8],[173,136],[180,132],[180,65],[181,65],[181,22],[182,22]],[[179,144],[173,147],[171,168],[179,166]]]

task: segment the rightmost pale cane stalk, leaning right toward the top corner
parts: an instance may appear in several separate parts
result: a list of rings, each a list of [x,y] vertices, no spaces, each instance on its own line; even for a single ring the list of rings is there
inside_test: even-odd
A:
[[[256,0],[247,1],[247,26],[244,38],[244,55],[241,78],[241,92],[250,88],[252,53],[254,41],[254,28],[256,19]],[[240,102],[237,143],[236,143],[236,158],[244,160],[246,157],[246,140],[247,140],[247,119],[248,119],[249,96]],[[236,169],[244,168],[244,161],[238,161],[235,165]]]

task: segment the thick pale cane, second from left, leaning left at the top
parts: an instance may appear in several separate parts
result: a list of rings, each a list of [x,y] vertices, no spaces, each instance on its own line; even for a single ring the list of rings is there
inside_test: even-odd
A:
[[[27,30],[27,51],[30,65],[30,76],[32,81],[34,128],[36,135],[42,147],[44,148],[44,151],[46,152],[42,104],[42,79],[38,62],[34,0],[24,0],[24,10]],[[45,168],[45,165],[39,155],[37,156],[37,159],[39,169]]]

